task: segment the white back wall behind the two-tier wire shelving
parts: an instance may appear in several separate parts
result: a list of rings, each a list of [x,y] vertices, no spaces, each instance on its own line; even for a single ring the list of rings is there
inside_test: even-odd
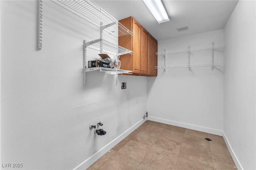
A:
[[[158,41],[158,51],[184,49],[224,43],[224,30]],[[214,61],[223,62],[224,49],[216,49]],[[190,55],[190,64],[211,63],[212,51]],[[167,55],[166,65],[188,64],[188,53]],[[158,55],[158,66],[164,56]],[[158,76],[148,78],[149,119],[195,130],[222,134],[223,67],[158,69]]]

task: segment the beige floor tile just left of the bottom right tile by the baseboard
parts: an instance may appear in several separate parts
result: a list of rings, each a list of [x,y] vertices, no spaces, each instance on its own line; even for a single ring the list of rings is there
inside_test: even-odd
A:
[[[186,160],[212,168],[212,157],[209,150],[196,148],[182,143],[179,156]]]

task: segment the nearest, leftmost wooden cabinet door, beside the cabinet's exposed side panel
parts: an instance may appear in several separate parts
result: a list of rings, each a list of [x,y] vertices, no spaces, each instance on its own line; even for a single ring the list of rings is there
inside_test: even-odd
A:
[[[140,59],[140,24],[132,18],[132,73],[140,74],[141,59]]]

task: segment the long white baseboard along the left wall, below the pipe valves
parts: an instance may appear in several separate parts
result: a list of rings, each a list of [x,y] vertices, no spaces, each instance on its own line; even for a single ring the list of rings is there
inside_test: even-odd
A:
[[[146,119],[140,120],[138,123],[133,125],[131,128],[126,130],[123,134],[112,140],[109,144],[104,146],[102,149],[100,149],[98,152],[93,154],[90,158],[82,162],[82,164],[78,165],[74,170],[86,170],[89,168],[94,162],[96,162],[100,157],[102,157],[104,154],[106,154],[110,149],[112,149],[116,144],[121,142],[126,136],[128,136],[130,133],[132,133],[136,128],[138,128],[142,123],[144,123]]]

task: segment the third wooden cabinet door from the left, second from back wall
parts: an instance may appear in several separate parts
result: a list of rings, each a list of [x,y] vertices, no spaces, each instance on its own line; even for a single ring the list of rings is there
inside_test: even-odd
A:
[[[148,75],[154,75],[153,37],[148,34]]]

